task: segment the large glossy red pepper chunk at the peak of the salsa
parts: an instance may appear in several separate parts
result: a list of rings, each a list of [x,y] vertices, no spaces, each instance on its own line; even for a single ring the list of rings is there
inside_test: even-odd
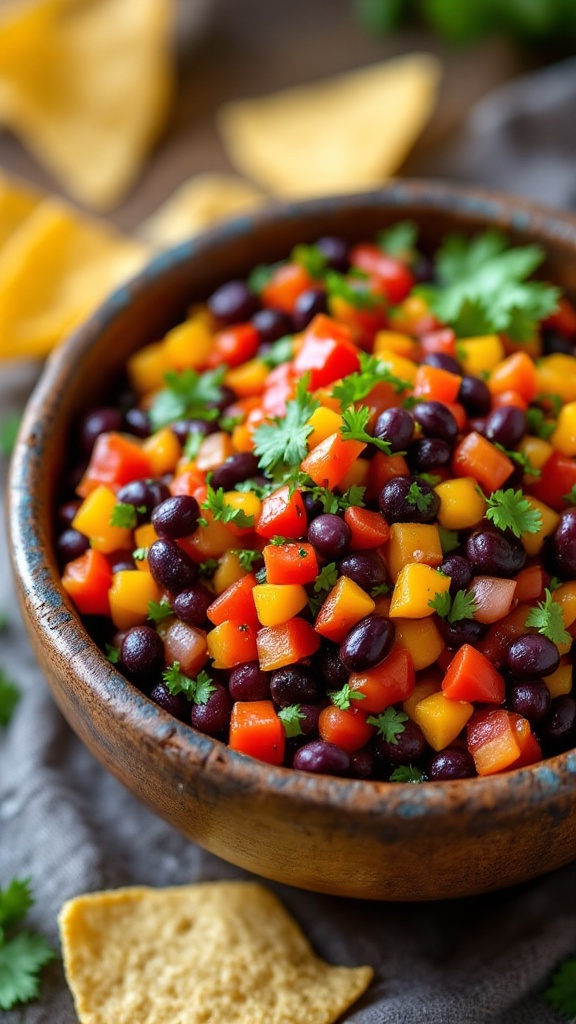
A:
[[[292,366],[296,377],[310,374],[310,387],[315,391],[360,370],[359,349],[347,328],[318,313],[304,331]]]

